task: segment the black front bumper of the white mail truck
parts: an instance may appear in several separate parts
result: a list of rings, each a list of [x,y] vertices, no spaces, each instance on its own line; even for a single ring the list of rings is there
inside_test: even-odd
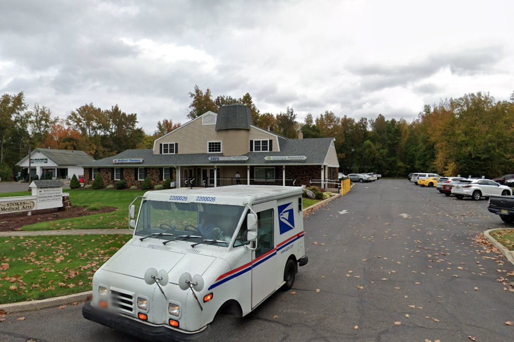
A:
[[[90,301],[82,307],[82,316],[106,327],[151,341],[190,341],[202,337],[207,330],[187,334],[163,326],[151,326],[141,321],[95,308]]]

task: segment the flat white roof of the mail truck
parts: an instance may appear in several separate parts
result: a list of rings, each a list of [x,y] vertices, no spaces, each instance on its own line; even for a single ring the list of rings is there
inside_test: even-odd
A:
[[[196,202],[196,197],[216,196],[219,199],[224,198],[226,204],[228,202],[243,203],[249,201],[252,203],[262,202],[264,200],[273,200],[288,196],[301,195],[303,188],[300,186],[277,186],[277,185],[228,185],[208,188],[186,188],[168,189],[159,191],[150,191],[144,194],[146,199],[170,200],[172,195],[187,195],[187,202]],[[173,199],[171,199],[173,201]],[[217,201],[216,201],[217,202]],[[218,202],[219,203],[219,202]],[[235,203],[234,203],[235,204]]]

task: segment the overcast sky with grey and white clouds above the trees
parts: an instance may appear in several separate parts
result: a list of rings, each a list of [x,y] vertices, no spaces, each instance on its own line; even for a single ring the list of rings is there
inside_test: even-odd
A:
[[[0,2],[0,93],[53,115],[93,102],[185,123],[195,84],[303,120],[411,121],[424,104],[514,90],[512,1]]]

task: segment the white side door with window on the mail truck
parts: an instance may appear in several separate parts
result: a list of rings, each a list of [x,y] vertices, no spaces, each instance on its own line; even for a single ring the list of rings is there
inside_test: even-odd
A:
[[[274,208],[277,201],[256,204],[257,246],[252,251],[252,309],[277,289],[277,251],[275,249],[274,227],[278,224]]]

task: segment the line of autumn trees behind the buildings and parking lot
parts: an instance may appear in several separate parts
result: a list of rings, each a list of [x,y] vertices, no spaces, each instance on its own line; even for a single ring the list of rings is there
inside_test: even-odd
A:
[[[223,105],[243,103],[251,110],[254,125],[286,138],[334,138],[340,171],[376,172],[404,177],[410,172],[495,177],[514,172],[514,92],[510,101],[497,101],[489,93],[425,105],[412,122],[405,119],[355,119],[326,110],[303,122],[291,107],[284,112],[263,112],[249,93],[241,98],[216,98],[194,86],[186,117],[194,119]],[[45,106],[28,108],[23,91],[0,98],[0,177],[16,170],[15,163],[28,147],[83,150],[95,159],[125,149],[152,148],[153,141],[180,123],[164,119],[152,134],[137,127],[137,114],[113,105],[102,109],[93,103],[72,110],[65,118],[53,117]]]

